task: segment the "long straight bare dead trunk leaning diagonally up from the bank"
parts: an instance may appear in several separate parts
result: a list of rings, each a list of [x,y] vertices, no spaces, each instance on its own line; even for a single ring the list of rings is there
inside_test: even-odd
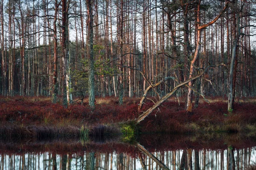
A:
[[[220,64],[220,65],[224,65],[224,64]],[[136,124],[139,124],[141,121],[143,121],[145,119],[145,117],[147,117],[150,113],[152,113],[156,108],[158,108],[160,105],[163,104],[163,102],[165,102],[167,99],[169,99],[169,97],[171,97],[173,94],[175,94],[175,92],[181,88],[182,86],[188,84],[189,82],[200,78],[201,76],[204,75],[204,73],[207,71],[208,68],[212,68],[212,67],[216,67],[216,66],[220,66],[220,65],[209,65],[207,68],[205,68],[200,74],[198,74],[195,77],[192,77],[188,80],[186,80],[185,82],[180,83],[179,85],[177,85],[175,88],[172,89],[172,91],[170,91],[170,93],[166,94],[165,96],[163,96],[158,102],[156,102],[156,104],[154,106],[152,106],[151,108],[149,108],[147,111],[145,111],[143,114],[141,114],[137,119],[135,119]],[[143,95],[144,97],[144,95]]]

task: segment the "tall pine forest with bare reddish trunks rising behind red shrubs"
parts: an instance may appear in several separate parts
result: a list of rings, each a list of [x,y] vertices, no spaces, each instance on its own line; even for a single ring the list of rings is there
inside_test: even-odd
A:
[[[255,14],[254,0],[1,0],[0,93],[83,99],[94,62],[103,97],[172,77],[150,94],[163,96],[221,64],[177,95],[255,96]]]

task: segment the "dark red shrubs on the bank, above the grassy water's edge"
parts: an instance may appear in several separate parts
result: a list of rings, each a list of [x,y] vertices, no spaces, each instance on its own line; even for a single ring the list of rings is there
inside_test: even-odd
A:
[[[124,105],[118,105],[115,97],[96,98],[97,105],[92,112],[86,102],[75,103],[70,108],[61,104],[52,104],[47,97],[4,97],[0,96],[0,122],[20,125],[99,125],[113,124],[136,119],[141,113],[137,111],[138,98],[125,98]],[[143,111],[150,108],[152,102],[143,105]],[[232,114],[227,112],[226,102],[201,102],[192,114],[185,111],[185,102],[180,105],[169,99],[151,115],[140,122],[142,132],[193,132],[193,128],[230,125],[256,124],[256,105],[252,102],[235,103]],[[191,125],[189,125],[191,124]],[[188,126],[189,125],[189,126]],[[236,129],[234,130],[236,131]],[[239,128],[238,128],[239,131]]]

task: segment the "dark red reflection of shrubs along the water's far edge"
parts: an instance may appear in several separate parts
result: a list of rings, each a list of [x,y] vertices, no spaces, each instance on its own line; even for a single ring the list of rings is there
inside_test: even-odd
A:
[[[195,150],[227,150],[232,146],[237,149],[255,147],[255,139],[237,134],[143,134],[138,137],[138,141],[149,152],[163,152],[170,150],[184,150],[192,148]],[[22,147],[21,147],[22,146]],[[127,153],[130,156],[137,156],[141,153],[136,144],[120,142],[118,138],[106,140],[105,142],[94,142],[91,140],[86,144],[78,138],[46,139],[46,140],[24,140],[24,141],[4,141],[0,140],[0,154],[23,154],[51,152],[56,154],[76,153],[83,155],[84,152],[96,153]]]

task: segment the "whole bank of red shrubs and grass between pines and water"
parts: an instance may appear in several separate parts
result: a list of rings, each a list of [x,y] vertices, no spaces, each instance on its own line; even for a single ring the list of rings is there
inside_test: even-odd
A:
[[[154,99],[154,98],[152,98]],[[61,101],[52,104],[50,97],[0,96],[0,136],[17,138],[79,138],[81,134],[141,133],[204,133],[229,132],[256,136],[256,99],[236,100],[234,111],[227,111],[227,99],[209,97],[200,100],[192,114],[185,111],[185,98],[170,98],[139,125],[129,122],[136,119],[140,98],[96,98],[96,108],[91,111],[88,102],[76,102],[64,108]],[[142,110],[153,102],[146,100]],[[88,135],[87,134],[87,135]],[[86,135],[84,135],[86,137]]]

